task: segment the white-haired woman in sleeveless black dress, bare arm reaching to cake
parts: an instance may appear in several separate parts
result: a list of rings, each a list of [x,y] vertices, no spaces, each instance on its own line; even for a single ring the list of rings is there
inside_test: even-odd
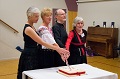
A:
[[[37,34],[34,23],[37,23],[39,20],[39,9],[36,7],[30,7],[27,10],[28,21],[23,29],[23,37],[24,37],[24,51],[21,53],[19,59],[18,66],[18,75],[17,79],[22,79],[22,72],[26,70],[39,69],[39,65],[41,64],[40,59],[41,53],[37,50],[37,43],[40,45],[44,45],[47,48],[56,50],[59,54],[69,53],[67,50],[59,48],[57,46],[53,46],[52,44],[48,44],[44,42]],[[64,55],[64,61],[67,57]],[[42,62],[42,61],[41,61]]]

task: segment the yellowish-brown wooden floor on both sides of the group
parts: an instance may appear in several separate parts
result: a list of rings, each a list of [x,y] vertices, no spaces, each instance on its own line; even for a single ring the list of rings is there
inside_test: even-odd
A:
[[[87,57],[88,64],[110,72],[120,77],[120,58],[114,60],[101,56]],[[16,79],[18,59],[0,61],[0,79]],[[119,78],[120,79],[120,78]]]

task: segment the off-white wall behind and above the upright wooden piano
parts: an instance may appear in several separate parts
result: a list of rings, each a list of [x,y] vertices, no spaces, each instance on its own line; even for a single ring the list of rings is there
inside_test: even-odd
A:
[[[95,25],[100,25],[101,27],[103,26],[103,21],[106,21],[107,27],[110,27],[111,22],[113,21],[115,22],[115,27],[119,28],[120,30],[120,10],[119,10],[120,0],[113,1],[91,0],[91,1],[98,2],[82,1],[82,3],[78,3],[78,15],[84,18],[85,21],[84,28],[87,29],[88,26],[92,26],[93,21],[95,21]]]

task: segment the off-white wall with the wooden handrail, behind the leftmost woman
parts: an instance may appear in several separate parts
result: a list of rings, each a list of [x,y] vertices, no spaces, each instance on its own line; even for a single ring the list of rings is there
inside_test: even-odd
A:
[[[36,6],[40,10],[45,7],[67,9],[64,0],[0,0],[0,19],[19,31],[19,33],[16,34],[0,22],[0,42],[5,43],[5,45],[13,49],[18,45],[23,48],[22,31],[27,21],[26,10],[30,6]],[[41,19],[35,24],[36,29],[40,24]],[[1,57],[5,59],[7,59],[7,57],[8,59],[12,58],[7,53],[12,51],[6,50],[6,53],[3,53],[2,50],[6,49],[0,49],[0,59]]]

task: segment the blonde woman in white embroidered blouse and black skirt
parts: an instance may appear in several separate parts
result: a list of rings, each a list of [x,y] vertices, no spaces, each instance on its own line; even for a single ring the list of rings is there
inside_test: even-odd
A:
[[[53,36],[52,36],[52,30],[49,26],[51,22],[52,17],[52,10],[49,8],[44,8],[41,11],[41,18],[42,18],[42,24],[38,28],[38,34],[39,36],[47,43],[53,44],[55,46],[58,46],[58,44],[55,42]],[[43,57],[43,63],[41,64],[41,67],[53,67],[54,66],[54,51],[51,49],[48,49],[47,47],[42,45],[39,45],[39,51]]]

